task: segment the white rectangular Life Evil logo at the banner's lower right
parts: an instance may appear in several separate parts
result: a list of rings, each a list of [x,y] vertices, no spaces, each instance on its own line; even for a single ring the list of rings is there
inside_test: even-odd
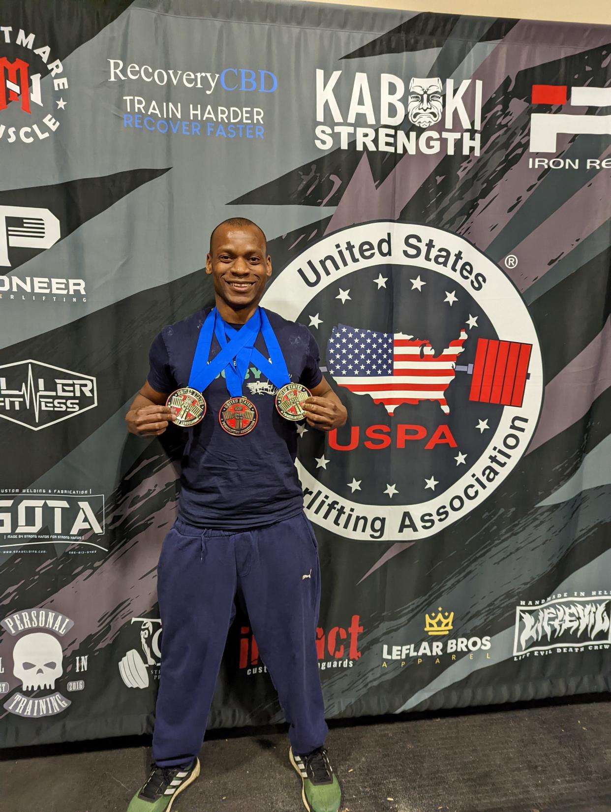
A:
[[[583,595],[583,593],[581,593]],[[600,596],[600,593],[598,593]],[[514,658],[609,649],[611,596],[565,595],[515,610]]]

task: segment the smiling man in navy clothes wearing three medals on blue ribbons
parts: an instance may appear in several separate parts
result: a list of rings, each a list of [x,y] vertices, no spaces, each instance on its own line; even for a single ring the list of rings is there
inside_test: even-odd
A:
[[[303,412],[308,425],[323,431],[344,425],[346,408],[321,374],[308,328],[259,307],[272,264],[255,223],[231,218],[214,229],[206,273],[215,309],[161,330],[148,379],[126,417],[127,429],[140,437],[157,437],[172,421],[199,420],[175,429],[188,431],[188,439],[178,518],[157,568],[163,638],[154,763],[128,812],[170,810],[199,775],[197,754],[235,598],[246,604],[289,722],[289,758],[302,780],[303,804],[311,812],[338,812],[316,656],[317,543],[295,469],[295,408],[275,395],[290,383],[301,384],[306,397],[307,387]],[[261,385],[247,389],[245,380]]]

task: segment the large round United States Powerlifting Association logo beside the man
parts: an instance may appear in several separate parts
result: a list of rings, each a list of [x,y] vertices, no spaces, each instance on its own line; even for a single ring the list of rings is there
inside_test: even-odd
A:
[[[310,245],[262,304],[308,325],[348,409],[299,427],[309,518],[360,540],[415,541],[488,499],[523,456],[543,373],[509,277],[441,229],[369,222]]]

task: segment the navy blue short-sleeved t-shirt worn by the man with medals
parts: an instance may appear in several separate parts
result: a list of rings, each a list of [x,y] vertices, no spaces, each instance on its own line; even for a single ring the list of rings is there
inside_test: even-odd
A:
[[[210,309],[164,327],[148,355],[148,382],[168,395],[187,387],[200,327]],[[308,389],[322,380],[320,353],[308,327],[287,322],[265,310],[278,339],[290,379]],[[269,352],[259,334],[255,347],[265,358]],[[211,360],[220,352],[216,337]],[[303,510],[295,456],[297,425],[280,417],[275,405],[276,387],[251,362],[242,394],[256,406],[259,421],[249,434],[234,437],[218,422],[218,412],[230,397],[225,378],[219,375],[204,391],[207,411],[188,433],[180,478],[179,516],[189,525],[220,529],[247,529],[288,519]]]

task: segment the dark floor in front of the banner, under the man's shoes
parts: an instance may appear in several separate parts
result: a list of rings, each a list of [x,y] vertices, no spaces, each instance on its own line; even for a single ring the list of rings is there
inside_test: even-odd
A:
[[[330,725],[342,812],[611,812],[611,703],[359,719]],[[5,750],[2,812],[125,812],[147,739]],[[211,732],[172,812],[299,812],[282,728]]]

